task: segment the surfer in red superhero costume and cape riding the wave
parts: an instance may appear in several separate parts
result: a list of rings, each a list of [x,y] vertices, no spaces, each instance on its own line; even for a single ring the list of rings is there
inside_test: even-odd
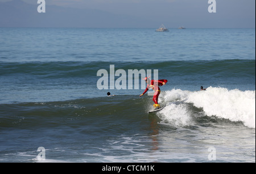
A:
[[[153,97],[153,101],[155,104],[153,106],[155,107],[155,109],[159,109],[160,105],[158,104],[158,97],[161,93],[159,86],[165,85],[167,83],[167,80],[150,80],[150,77],[143,78],[143,80],[146,81],[147,88],[139,97],[143,96],[148,91],[148,89],[152,88],[155,92]]]

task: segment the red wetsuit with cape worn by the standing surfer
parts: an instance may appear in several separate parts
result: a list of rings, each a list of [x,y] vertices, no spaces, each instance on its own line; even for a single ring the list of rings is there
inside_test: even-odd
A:
[[[158,96],[161,93],[159,86],[162,86],[163,82],[167,83],[167,80],[151,80],[150,84],[147,83],[147,88],[145,89],[143,94],[145,94],[149,88],[154,89],[155,93],[154,93],[153,101],[156,104],[158,104]]]

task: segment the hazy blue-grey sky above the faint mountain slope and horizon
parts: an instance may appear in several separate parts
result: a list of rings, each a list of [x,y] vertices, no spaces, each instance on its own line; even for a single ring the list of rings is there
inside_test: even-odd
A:
[[[0,0],[6,2],[10,0]],[[16,0],[14,0],[16,1]],[[37,0],[23,0],[36,4]],[[216,13],[208,12],[208,0],[45,0],[80,9],[97,9],[127,15],[167,27],[255,28],[255,0],[216,0]],[[158,27],[159,27],[158,26]],[[131,26],[136,27],[136,26]],[[142,26],[143,27],[143,26]]]

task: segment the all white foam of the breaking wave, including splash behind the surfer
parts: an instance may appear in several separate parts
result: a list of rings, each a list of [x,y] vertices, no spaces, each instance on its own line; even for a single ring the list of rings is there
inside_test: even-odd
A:
[[[211,86],[205,91],[196,92],[172,89],[165,92],[163,97],[159,99],[161,102],[183,101],[193,103],[194,106],[203,108],[208,116],[214,115],[230,121],[241,121],[245,126],[255,129],[255,90],[243,92],[238,89],[228,90]],[[183,118],[181,123],[186,124],[189,121],[189,111],[182,104],[171,104],[166,109],[170,112],[165,114],[163,110],[164,118],[170,120],[180,115]]]

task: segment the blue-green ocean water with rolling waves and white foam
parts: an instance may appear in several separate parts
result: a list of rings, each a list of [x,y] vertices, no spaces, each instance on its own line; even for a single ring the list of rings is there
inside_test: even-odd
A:
[[[0,162],[255,163],[255,28],[169,30],[0,28]]]

